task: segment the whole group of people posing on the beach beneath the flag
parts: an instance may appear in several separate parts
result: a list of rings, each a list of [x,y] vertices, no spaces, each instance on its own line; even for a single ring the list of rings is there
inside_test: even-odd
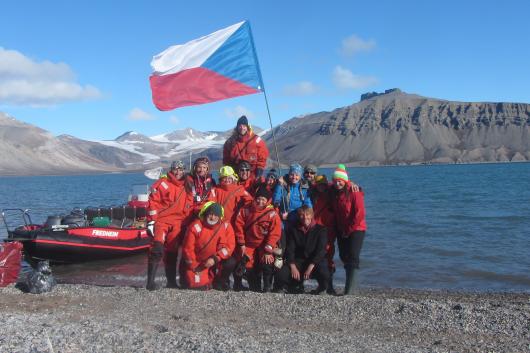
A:
[[[328,181],[314,165],[265,173],[268,156],[242,116],[224,145],[218,182],[206,157],[188,173],[181,161],[171,163],[149,198],[147,289],[156,289],[163,259],[170,288],[229,290],[232,277],[236,291],[303,293],[314,278],[313,294],[336,294],[336,242],[344,294],[353,293],[366,230],[362,190],[342,164]]]

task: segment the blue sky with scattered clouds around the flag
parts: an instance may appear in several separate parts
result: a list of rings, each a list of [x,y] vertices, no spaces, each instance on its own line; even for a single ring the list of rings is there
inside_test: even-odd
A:
[[[0,112],[54,135],[111,140],[192,127],[269,128],[263,94],[158,111],[167,47],[250,21],[273,125],[400,88],[530,103],[527,1],[9,1],[0,11]]]

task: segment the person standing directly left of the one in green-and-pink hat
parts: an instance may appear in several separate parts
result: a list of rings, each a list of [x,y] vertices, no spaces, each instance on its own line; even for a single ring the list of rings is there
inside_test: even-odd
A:
[[[333,273],[335,272],[335,215],[331,209],[330,194],[331,186],[325,175],[318,175],[315,178],[315,186],[311,193],[313,201],[313,212],[315,223],[327,228],[328,243],[326,247],[326,257],[329,267],[329,282],[327,287],[328,294],[337,294],[333,288]]]

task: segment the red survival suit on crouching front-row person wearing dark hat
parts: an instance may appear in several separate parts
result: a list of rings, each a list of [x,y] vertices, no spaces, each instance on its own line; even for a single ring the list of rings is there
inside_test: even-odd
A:
[[[234,228],[237,244],[245,246],[245,254],[249,257],[248,269],[254,267],[256,259],[271,254],[282,236],[282,221],[272,205],[263,210],[254,205],[242,208]],[[242,254],[238,257],[241,258]]]

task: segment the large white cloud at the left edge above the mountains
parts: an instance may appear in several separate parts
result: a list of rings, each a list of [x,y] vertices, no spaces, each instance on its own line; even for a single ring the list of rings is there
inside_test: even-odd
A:
[[[0,47],[0,104],[47,106],[100,98],[94,86],[82,86],[65,63],[36,62]]]

